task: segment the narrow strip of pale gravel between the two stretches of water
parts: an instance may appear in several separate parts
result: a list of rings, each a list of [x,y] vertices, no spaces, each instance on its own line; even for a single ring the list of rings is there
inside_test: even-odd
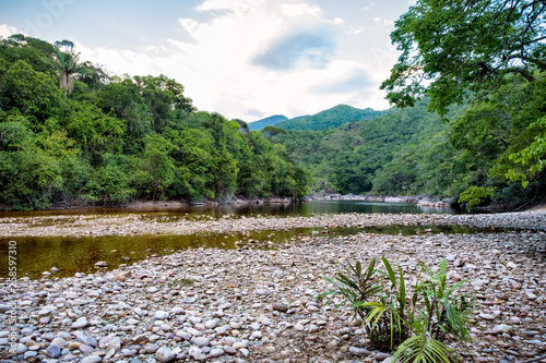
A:
[[[0,238],[192,234],[197,232],[248,232],[294,228],[336,228],[367,226],[459,225],[483,228],[546,229],[546,211],[491,215],[393,215],[342,214],[311,217],[254,216],[165,216],[162,214],[81,215],[0,218]]]

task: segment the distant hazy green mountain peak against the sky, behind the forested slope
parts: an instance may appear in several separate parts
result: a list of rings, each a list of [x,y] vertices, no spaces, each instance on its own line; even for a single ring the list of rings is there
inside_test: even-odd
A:
[[[335,129],[348,122],[372,119],[385,111],[376,111],[371,108],[358,109],[347,105],[337,105],[319,113],[285,120],[275,124],[284,130],[328,130]]]

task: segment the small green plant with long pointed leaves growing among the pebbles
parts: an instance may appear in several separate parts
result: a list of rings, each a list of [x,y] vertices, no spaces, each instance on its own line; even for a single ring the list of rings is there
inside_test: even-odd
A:
[[[351,302],[352,310],[366,330],[370,344],[380,350],[395,350],[395,362],[458,362],[459,354],[447,341],[471,340],[470,319],[474,298],[466,299],[455,291],[465,281],[448,286],[447,264],[442,259],[434,273],[422,264],[413,292],[406,292],[402,268],[392,268],[382,257],[385,271],[376,268],[372,258],[366,269],[361,263],[345,266],[335,279],[324,277],[334,285],[318,299],[336,295]],[[411,299],[408,299],[411,297]]]

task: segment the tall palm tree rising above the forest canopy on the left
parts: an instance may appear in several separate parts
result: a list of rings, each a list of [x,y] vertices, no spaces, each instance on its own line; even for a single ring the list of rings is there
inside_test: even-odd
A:
[[[64,47],[62,51],[60,47]],[[64,89],[64,96],[72,93],[74,88],[74,74],[83,73],[83,64],[79,63],[80,53],[74,55],[74,44],[70,40],[62,40],[55,43],[55,50],[57,50],[57,58],[44,58],[43,61],[57,70],[59,75],[59,88]]]

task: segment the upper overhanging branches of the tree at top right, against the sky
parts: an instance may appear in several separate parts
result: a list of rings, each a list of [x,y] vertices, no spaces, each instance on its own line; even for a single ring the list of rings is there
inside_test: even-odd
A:
[[[429,109],[446,114],[507,74],[533,82],[546,70],[545,13],[545,0],[419,0],[395,22],[402,55],[381,88],[402,107],[428,95]]]

